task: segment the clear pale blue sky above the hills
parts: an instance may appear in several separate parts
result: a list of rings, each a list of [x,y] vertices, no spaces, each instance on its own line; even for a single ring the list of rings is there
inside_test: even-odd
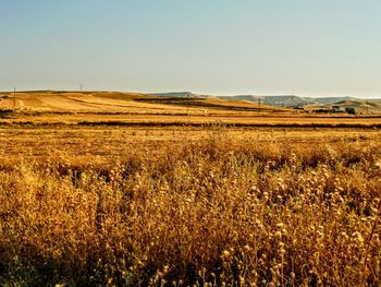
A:
[[[0,91],[381,97],[379,0],[0,0]]]

